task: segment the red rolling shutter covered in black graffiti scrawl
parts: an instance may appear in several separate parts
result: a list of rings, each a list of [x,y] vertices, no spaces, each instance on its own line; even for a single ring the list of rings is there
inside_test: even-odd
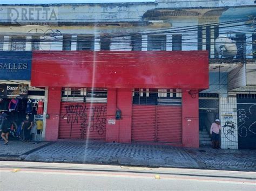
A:
[[[62,102],[59,138],[105,140],[106,104]]]

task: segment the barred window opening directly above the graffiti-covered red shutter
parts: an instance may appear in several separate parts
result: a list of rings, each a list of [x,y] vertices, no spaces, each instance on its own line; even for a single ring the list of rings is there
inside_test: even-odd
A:
[[[62,89],[62,102],[106,103],[107,89],[104,88],[69,88]]]

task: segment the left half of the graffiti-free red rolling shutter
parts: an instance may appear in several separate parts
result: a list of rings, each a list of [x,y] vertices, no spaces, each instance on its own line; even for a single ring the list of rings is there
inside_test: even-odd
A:
[[[132,141],[155,142],[156,106],[132,105]]]

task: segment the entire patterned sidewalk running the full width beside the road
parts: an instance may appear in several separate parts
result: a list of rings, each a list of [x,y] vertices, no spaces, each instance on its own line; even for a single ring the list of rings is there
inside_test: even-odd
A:
[[[16,159],[12,158],[16,155]],[[1,158],[2,156],[2,158]],[[18,156],[18,157],[17,157]],[[213,150],[103,142],[10,142],[0,160],[256,171],[256,150]]]

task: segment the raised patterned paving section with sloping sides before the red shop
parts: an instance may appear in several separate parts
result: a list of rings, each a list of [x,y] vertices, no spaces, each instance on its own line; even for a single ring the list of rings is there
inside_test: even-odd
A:
[[[197,162],[179,147],[99,142],[57,142],[29,154],[25,160],[198,167]]]

